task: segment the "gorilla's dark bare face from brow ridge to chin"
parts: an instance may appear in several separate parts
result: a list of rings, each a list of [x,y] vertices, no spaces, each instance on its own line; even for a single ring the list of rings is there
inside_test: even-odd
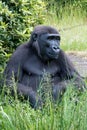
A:
[[[37,39],[41,58],[43,58],[44,60],[58,58],[58,54],[60,51],[59,34],[42,33],[40,35],[37,34],[37,36],[34,36],[34,38]]]

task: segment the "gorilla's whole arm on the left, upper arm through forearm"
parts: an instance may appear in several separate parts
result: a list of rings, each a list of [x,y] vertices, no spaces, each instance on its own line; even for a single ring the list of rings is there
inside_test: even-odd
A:
[[[25,98],[29,98],[30,105],[33,108],[39,107],[42,104],[41,99],[38,97],[37,93],[32,89],[31,86],[27,86],[22,83],[22,79],[24,76],[23,72],[23,66],[18,67],[18,61],[14,61],[13,59],[17,58],[11,58],[5,71],[5,83],[6,85],[12,90],[14,94],[14,82],[17,85],[17,93],[18,95],[22,94]],[[12,66],[13,65],[13,66]],[[21,63],[22,65],[22,63]]]

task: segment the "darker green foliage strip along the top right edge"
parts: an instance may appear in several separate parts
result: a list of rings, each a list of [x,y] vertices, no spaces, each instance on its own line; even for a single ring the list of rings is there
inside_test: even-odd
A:
[[[86,0],[45,0],[49,11],[52,10],[56,13],[57,17],[61,20],[65,13],[66,16],[74,16],[85,14],[87,16],[87,1]]]

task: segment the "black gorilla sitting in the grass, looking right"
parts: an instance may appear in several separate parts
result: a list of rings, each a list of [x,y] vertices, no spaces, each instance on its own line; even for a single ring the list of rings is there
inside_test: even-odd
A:
[[[58,31],[49,26],[36,26],[30,41],[20,45],[13,53],[4,77],[6,85],[12,87],[14,76],[18,94],[29,98],[31,106],[35,108],[43,103],[37,90],[44,72],[50,74],[54,100],[65,92],[71,79],[77,88],[83,89],[85,86],[79,73],[60,49]]]

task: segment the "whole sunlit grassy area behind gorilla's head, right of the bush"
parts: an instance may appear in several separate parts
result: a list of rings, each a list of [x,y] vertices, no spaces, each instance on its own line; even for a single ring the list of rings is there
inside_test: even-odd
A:
[[[82,7],[51,5],[46,25],[57,28],[61,34],[61,47],[67,51],[87,51],[87,12]]]

